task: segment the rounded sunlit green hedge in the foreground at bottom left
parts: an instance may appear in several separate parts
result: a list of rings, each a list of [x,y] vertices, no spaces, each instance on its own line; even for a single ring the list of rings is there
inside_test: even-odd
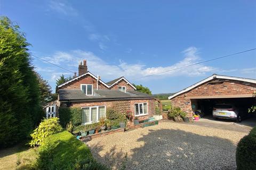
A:
[[[93,159],[83,142],[67,131],[47,137],[38,154],[37,169],[107,169]]]

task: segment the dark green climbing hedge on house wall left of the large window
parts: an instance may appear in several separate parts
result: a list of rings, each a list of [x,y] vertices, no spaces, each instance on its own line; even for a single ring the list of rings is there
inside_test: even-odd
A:
[[[63,128],[71,121],[74,126],[82,124],[82,109],[78,107],[59,108],[60,124]]]

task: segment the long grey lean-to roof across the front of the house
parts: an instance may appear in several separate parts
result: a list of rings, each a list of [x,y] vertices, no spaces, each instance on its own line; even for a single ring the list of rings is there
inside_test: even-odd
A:
[[[127,90],[126,93],[118,90],[93,90],[93,96],[86,96],[79,89],[60,89],[59,99],[65,100],[117,100],[117,99],[136,99],[136,98],[156,98],[155,96],[142,92]]]

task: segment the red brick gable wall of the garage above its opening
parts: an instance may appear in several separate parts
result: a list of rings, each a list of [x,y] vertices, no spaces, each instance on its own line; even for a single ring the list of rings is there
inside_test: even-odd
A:
[[[211,83],[217,79],[205,82],[194,89],[191,89],[183,94],[180,94],[171,99],[171,103],[174,106],[180,107],[183,111],[187,112],[189,116],[193,113],[191,108],[191,101],[189,97],[192,96],[215,96],[215,95],[244,95],[253,94],[256,91],[256,84],[237,81],[237,80],[225,80],[221,83]],[[187,103],[187,104],[185,104]]]

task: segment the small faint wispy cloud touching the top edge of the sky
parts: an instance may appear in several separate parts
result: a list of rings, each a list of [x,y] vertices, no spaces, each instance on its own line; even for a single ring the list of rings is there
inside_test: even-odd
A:
[[[52,11],[55,11],[60,14],[64,15],[78,15],[77,11],[74,7],[72,7],[71,4],[69,4],[67,1],[50,1],[49,7]]]

